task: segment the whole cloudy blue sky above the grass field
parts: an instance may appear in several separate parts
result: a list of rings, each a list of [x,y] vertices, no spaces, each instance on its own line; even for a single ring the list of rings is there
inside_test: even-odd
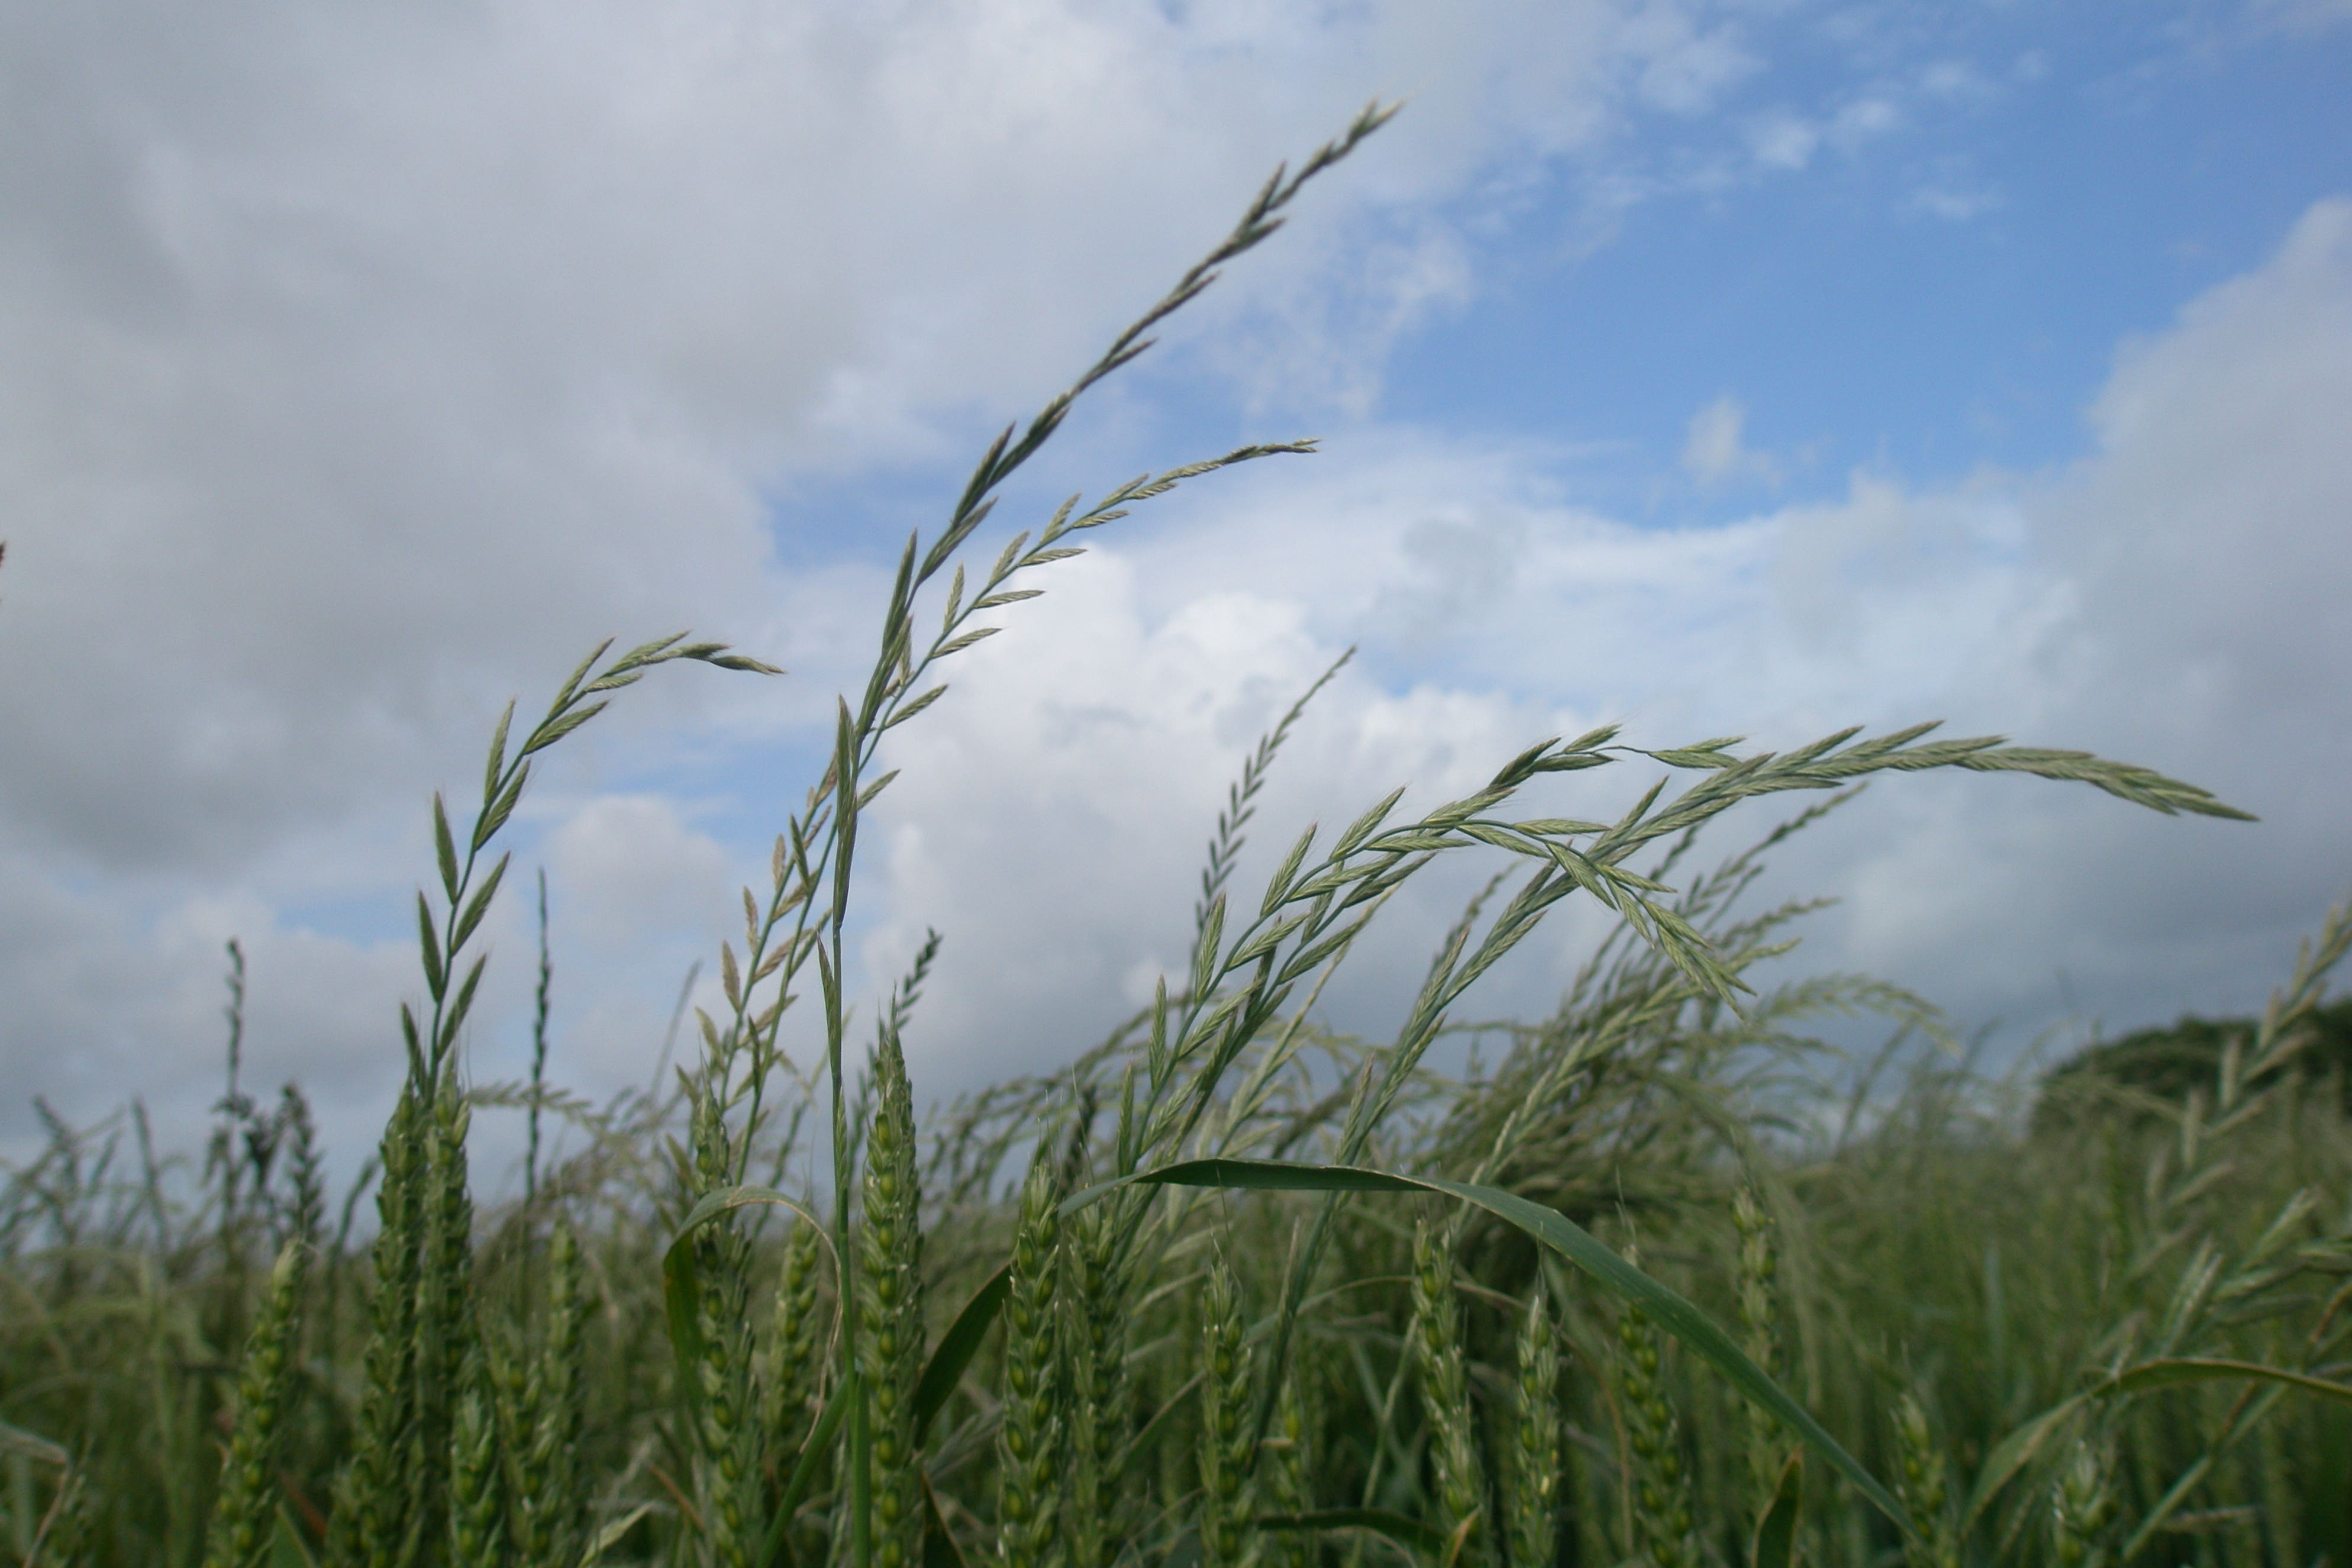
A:
[[[548,755],[468,1039],[522,1072],[543,870],[553,1077],[647,1081],[908,531],[1371,99],[976,541],[1322,442],[1096,534],[894,733],[854,990],[943,936],[917,1095],[1068,1060],[1183,964],[1228,780],[1350,646],[1258,851],[1602,722],[1947,719],[2260,820],[1893,778],[1776,858],[1764,896],[1837,900],[1783,978],[1898,980],[2006,1056],[2258,1006],[2352,889],[2343,0],[31,0],[0,1152],[35,1095],[186,1147],[238,938],[247,1086],[299,1079],[355,1164],[433,790],[595,642],[694,628],[788,675],[659,670]],[[1392,1023],[1479,877],[1402,900],[1331,1020]],[[1475,1011],[1545,1011],[1602,929],[1566,907]]]

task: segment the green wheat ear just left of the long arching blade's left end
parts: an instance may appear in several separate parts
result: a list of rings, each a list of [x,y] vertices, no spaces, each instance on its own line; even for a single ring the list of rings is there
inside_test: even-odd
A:
[[[1049,1140],[1040,1140],[1021,1182],[1011,1291],[1004,1298],[1004,1427],[997,1434],[997,1559],[1004,1568],[1044,1568],[1058,1533],[1063,1429],[1054,1276],[1061,1267],[1061,1215],[1054,1204],[1054,1157]]]

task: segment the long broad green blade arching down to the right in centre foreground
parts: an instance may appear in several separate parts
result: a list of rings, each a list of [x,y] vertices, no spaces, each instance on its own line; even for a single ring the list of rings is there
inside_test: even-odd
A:
[[[1698,1356],[1729,1378],[1731,1387],[1769,1410],[1780,1425],[1802,1436],[1806,1443],[1818,1448],[1820,1458],[1837,1467],[1837,1472],[1846,1476],[1875,1509],[1896,1521],[1896,1528],[1900,1528],[1905,1537],[1910,1535],[1910,1519],[1905,1516],[1903,1505],[1896,1502],[1893,1493],[1889,1493],[1860,1460],[1846,1453],[1844,1446],[1830,1436],[1818,1420],[1813,1420],[1811,1410],[1790,1399],[1762,1366],[1750,1361],[1748,1352],[1743,1352],[1738,1342],[1715,1324],[1715,1319],[1618,1258],[1592,1232],[1564,1213],[1555,1213],[1543,1204],[1531,1204],[1515,1192],[1479,1187],[1472,1182],[1451,1182],[1437,1175],[1399,1175],[1395,1171],[1369,1171],[1364,1166],[1312,1166],[1279,1159],[1188,1159],[1174,1166],[1160,1166],[1157,1171],[1141,1171],[1136,1175],[1087,1187],[1063,1204],[1063,1213],[1075,1213],[1112,1187],[1124,1187],[1129,1182],[1169,1187],[1242,1187],[1254,1192],[1442,1192],[1465,1204],[1475,1204],[1498,1220],[1517,1225],[1623,1300],[1642,1307],[1651,1321],[1658,1324],[1658,1328],[1689,1345]]]

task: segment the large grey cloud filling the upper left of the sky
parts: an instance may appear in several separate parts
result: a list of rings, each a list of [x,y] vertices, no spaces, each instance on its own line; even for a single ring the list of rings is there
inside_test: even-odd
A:
[[[209,1060],[223,912],[256,997],[306,985],[278,943],[369,997],[306,1018],[306,1060],[383,1060],[402,954],[355,910],[397,898],[423,788],[480,766],[508,691],[677,625],[823,689],[863,550],[788,574],[779,503],[1033,404],[1367,96],[1414,94],[1409,125],[1204,310],[1244,348],[1190,364],[1244,402],[1369,407],[1470,289],[1461,221],[1743,68],[1668,0],[9,9],[12,1081],[87,1105],[61,1039],[120,1037],[155,1093]],[[574,795],[821,708],[630,696],[555,762]]]

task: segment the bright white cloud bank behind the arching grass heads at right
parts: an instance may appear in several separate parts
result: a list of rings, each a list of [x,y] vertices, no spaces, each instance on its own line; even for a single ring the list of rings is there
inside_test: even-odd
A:
[[[1858,473],[1708,529],[1581,510],[1543,451],[1395,430],[1237,480],[1197,522],[1070,574],[908,736],[877,966],[924,926],[948,933],[917,1034],[950,1081],[1108,1027],[1138,978],[1181,964],[1242,750],[1359,644],[1279,766],[1261,853],[1395,783],[1437,799],[1602,719],[1642,743],[1785,745],[1947,717],[2145,762],[2265,820],[1886,780],[1785,856],[1783,891],[1844,898],[1806,964],[2020,1030],[2072,1004],[2114,1025],[2251,1006],[2352,879],[2352,623],[2333,602],[2352,567],[2347,367],[2352,205],[2326,202],[2272,263],[2119,355],[2096,451],[2063,473],[1936,491]],[[1564,809],[1623,783],[1573,776]],[[1395,912],[1352,1023],[1402,1004],[1449,896]],[[1569,922],[1491,1011],[1541,1006],[1590,931]]]

